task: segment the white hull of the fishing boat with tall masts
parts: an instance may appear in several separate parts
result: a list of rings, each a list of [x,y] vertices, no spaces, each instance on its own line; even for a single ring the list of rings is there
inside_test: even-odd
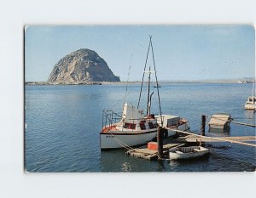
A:
[[[188,130],[189,127],[185,123],[172,129]],[[167,137],[175,135],[176,132],[168,129]],[[147,144],[152,141],[157,135],[157,129],[122,132],[122,131],[109,131],[108,133],[100,133],[101,136],[101,150],[120,149],[127,146],[135,146],[141,144]]]

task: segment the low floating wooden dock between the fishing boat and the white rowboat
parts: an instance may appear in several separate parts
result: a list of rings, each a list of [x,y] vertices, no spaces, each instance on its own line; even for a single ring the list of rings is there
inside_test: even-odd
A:
[[[168,150],[174,147],[180,147],[184,144],[176,143],[176,144],[165,144],[163,147],[164,154],[168,153]],[[157,160],[158,159],[158,151],[157,150],[148,150],[147,148],[128,150],[125,153],[126,156],[135,156],[137,158],[143,158],[147,160]]]

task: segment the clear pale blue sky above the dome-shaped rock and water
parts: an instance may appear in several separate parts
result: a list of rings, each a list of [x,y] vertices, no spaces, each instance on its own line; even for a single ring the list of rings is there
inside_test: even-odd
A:
[[[159,81],[231,80],[255,76],[252,25],[30,25],[25,81],[47,81],[54,65],[80,48],[96,51],[115,76],[141,81],[149,35]],[[148,65],[153,66],[152,54]]]

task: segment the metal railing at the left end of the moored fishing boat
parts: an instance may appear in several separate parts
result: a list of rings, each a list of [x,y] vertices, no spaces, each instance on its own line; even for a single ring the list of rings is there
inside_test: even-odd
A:
[[[113,110],[103,110],[102,112],[102,127],[112,127],[114,123],[119,122],[122,116],[121,113],[116,113]]]

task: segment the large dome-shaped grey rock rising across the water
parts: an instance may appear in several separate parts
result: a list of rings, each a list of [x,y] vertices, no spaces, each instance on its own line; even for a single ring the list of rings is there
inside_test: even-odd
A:
[[[48,82],[119,82],[108,64],[96,52],[81,48],[54,66]]]

